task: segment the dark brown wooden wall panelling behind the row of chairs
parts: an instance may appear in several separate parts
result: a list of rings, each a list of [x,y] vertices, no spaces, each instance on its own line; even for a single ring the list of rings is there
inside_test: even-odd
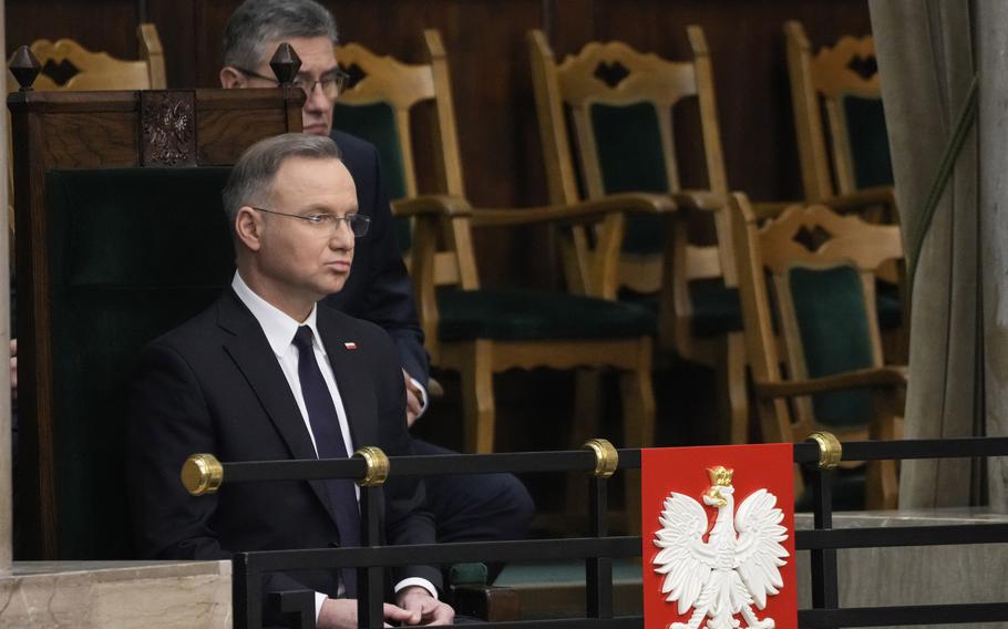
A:
[[[239,0],[8,0],[8,54],[41,37],[135,56],[140,4],[161,32],[168,86],[214,86],[220,37]],[[472,200],[543,204],[545,173],[525,32],[543,29],[558,59],[586,42],[624,40],[688,54],[685,27],[702,25],[714,65],[729,183],[757,199],[798,198],[801,177],[781,27],[801,20],[814,45],[871,30],[865,0],[323,0],[344,41],[404,60],[423,58],[421,31],[441,31]],[[421,183],[424,182],[421,173]],[[549,239],[537,230],[477,235],[487,283],[552,283]]]

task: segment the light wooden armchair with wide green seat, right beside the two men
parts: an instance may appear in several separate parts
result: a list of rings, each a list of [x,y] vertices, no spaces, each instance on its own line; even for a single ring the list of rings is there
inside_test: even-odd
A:
[[[362,78],[341,94],[333,120],[336,126],[379,146],[385,175],[393,179],[388,183],[390,196],[400,199],[393,203],[397,214],[415,221],[410,257],[420,319],[432,363],[462,374],[465,448],[493,451],[493,374],[534,367],[620,370],[623,445],[652,443],[655,316],[646,308],[604,297],[614,292],[606,287],[615,277],[621,210],[669,212],[671,204],[660,197],[625,195],[545,208],[471,208],[463,196],[444,48],[436,31],[424,31],[424,40],[430,62],[420,65],[379,58],[357,44],[339,48],[340,63],[356,66]],[[410,111],[419,103],[432,103],[434,110],[435,142],[426,157],[414,156],[411,142]],[[415,196],[413,165],[421,158],[433,158],[439,189],[446,196]],[[564,229],[597,221],[611,229],[586,260],[592,280],[586,295],[481,287],[473,228],[548,223]]]

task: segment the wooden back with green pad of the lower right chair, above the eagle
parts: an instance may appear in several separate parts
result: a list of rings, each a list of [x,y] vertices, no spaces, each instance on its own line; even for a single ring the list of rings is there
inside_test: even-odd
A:
[[[902,259],[899,228],[822,205],[795,205],[758,225],[742,195],[733,212],[753,378],[772,384],[882,367],[874,272]],[[820,427],[863,431],[874,412],[871,391],[856,389],[774,404],[778,416],[763,422],[771,441]]]

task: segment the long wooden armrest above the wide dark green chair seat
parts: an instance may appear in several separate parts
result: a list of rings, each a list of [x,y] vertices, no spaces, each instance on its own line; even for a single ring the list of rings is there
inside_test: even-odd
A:
[[[508,209],[473,209],[473,227],[505,227],[538,223],[595,223],[613,213],[667,214],[676,210],[668,195],[626,193],[572,205]]]

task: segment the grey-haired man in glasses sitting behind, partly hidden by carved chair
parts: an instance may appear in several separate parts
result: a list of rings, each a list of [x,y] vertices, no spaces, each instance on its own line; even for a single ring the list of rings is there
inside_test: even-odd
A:
[[[336,141],[357,184],[360,213],[371,218],[368,235],[358,241],[346,287],[326,301],[377,323],[395,341],[407,388],[407,421],[412,426],[426,409],[428,355],[410,278],[395,244],[378,151],[332,130],[333,103],[346,80],[332,48],[336,22],[313,0],[247,0],[228,19],[224,40],[224,87],[276,86],[269,59],[281,42],[290,43],[301,59],[297,83],[307,95],[302,128]],[[413,451],[450,453],[415,439]],[[534,505],[524,485],[511,474],[431,477],[426,486],[428,507],[441,542],[520,539],[527,534]]]

